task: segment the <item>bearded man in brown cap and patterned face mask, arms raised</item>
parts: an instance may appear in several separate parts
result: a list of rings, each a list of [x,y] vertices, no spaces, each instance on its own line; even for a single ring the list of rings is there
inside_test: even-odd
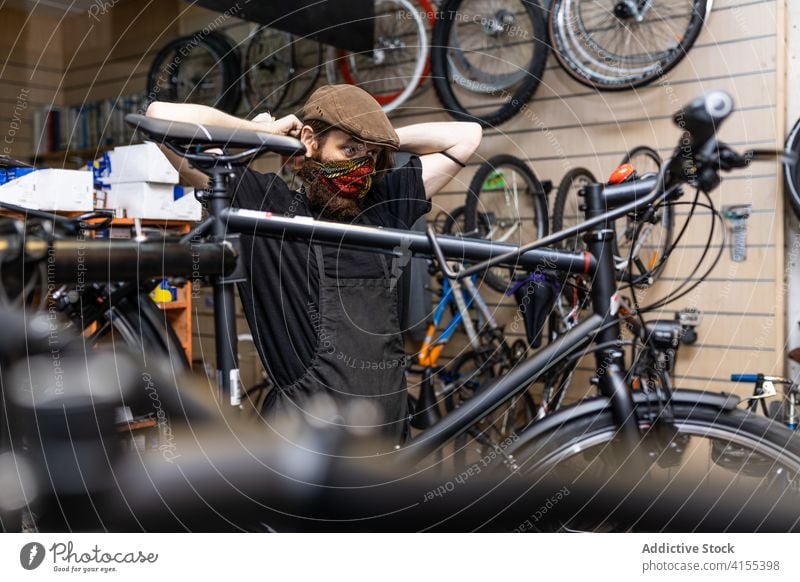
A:
[[[306,146],[292,191],[276,174],[241,171],[233,205],[285,216],[408,229],[480,144],[476,123],[422,123],[395,130],[380,105],[351,85],[316,90],[302,110],[254,121],[215,109],[156,102],[147,115],[175,121],[267,131]],[[413,154],[393,168],[394,153]],[[165,151],[196,188],[207,177]],[[328,393],[341,404],[370,402],[374,427],[393,442],[407,421],[405,354],[397,315],[402,265],[380,253],[313,241],[243,236],[248,281],[239,286],[251,332],[276,385],[268,414],[304,410]]]

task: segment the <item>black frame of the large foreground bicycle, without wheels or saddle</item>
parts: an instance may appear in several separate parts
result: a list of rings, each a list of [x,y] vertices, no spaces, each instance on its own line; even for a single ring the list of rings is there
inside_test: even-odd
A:
[[[428,429],[423,435],[411,440],[399,451],[406,460],[419,460],[451,438],[467,430],[480,418],[489,414],[506,400],[524,390],[530,383],[547,371],[561,358],[587,347],[592,342],[613,346],[620,334],[616,319],[616,270],[613,262],[614,230],[609,223],[624,216],[633,209],[641,208],[657,198],[652,192],[656,186],[655,178],[603,187],[596,184],[586,191],[586,224],[593,224],[585,233],[589,252],[568,252],[559,249],[532,249],[519,253],[520,247],[459,237],[439,236],[436,244],[450,259],[466,262],[485,261],[503,257],[501,265],[522,267],[531,271],[536,269],[556,269],[568,273],[592,277],[592,302],[596,314],[580,323],[573,330],[546,346],[533,358],[516,367],[500,378],[492,389],[479,395],[458,410]],[[215,192],[221,190],[215,189]],[[649,196],[643,194],[650,193]],[[222,194],[222,196],[226,196]],[[223,201],[221,201],[224,204]],[[282,237],[286,239],[309,240],[316,244],[337,245],[374,252],[393,253],[398,248],[408,249],[412,254],[434,256],[435,249],[425,234],[375,228],[360,225],[341,224],[313,220],[307,217],[289,218],[269,212],[254,210],[212,207],[217,228],[224,225],[228,233],[243,233],[250,236]],[[208,225],[211,226],[210,224]],[[577,227],[579,228],[579,227]],[[563,231],[547,237],[554,243],[572,236],[571,231]],[[222,280],[214,282],[215,298],[230,295],[233,289]],[[224,302],[227,305],[228,301]],[[215,325],[218,333],[218,354],[224,350],[224,357],[218,359],[222,365],[234,364],[236,353],[235,318],[232,308],[215,309]],[[632,442],[638,438],[638,423],[634,414],[633,400],[625,382],[623,353],[614,347],[596,353],[599,388],[612,403],[612,411],[624,438]],[[231,403],[239,403],[238,370],[219,367],[218,377],[221,390],[230,394]]]

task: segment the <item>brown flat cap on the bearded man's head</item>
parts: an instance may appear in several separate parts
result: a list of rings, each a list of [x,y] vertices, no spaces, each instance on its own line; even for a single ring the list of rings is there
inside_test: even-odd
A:
[[[397,137],[389,118],[375,98],[355,85],[323,85],[303,106],[303,121],[318,119],[358,139],[397,150]]]

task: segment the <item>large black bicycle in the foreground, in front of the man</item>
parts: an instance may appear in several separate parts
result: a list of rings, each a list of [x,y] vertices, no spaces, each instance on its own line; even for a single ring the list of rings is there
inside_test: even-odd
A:
[[[593,471],[602,471],[608,466],[619,467],[619,462],[612,462],[613,459],[604,455],[604,452],[615,448],[607,446],[614,441],[622,443],[624,458],[635,458],[636,463],[644,462],[647,465],[652,472],[648,473],[651,478],[648,485],[660,483],[666,473],[672,474],[672,469],[686,462],[689,456],[678,453],[692,447],[691,459],[705,459],[708,466],[713,468],[713,480],[730,481],[731,478],[746,477],[754,479],[755,485],[764,487],[765,493],[772,495],[774,492],[769,488],[777,487],[778,493],[785,490],[788,494],[791,476],[800,471],[800,449],[789,431],[768,419],[737,410],[737,399],[725,394],[671,390],[666,386],[658,387],[652,393],[631,393],[625,380],[623,356],[615,348],[621,320],[615,300],[615,269],[610,260],[613,236],[607,227],[603,227],[629,212],[677,197],[682,184],[686,182],[701,192],[711,191],[719,183],[718,172],[744,167],[753,159],[758,159],[761,155],[759,152],[740,155],[716,141],[715,128],[732,110],[731,98],[722,92],[711,92],[695,100],[679,116],[690,135],[691,157],[674,157],[655,177],[605,188],[599,184],[589,186],[586,189],[587,220],[584,223],[522,247],[437,237],[430,231],[423,235],[229,209],[226,204],[225,176],[233,163],[245,161],[268,149],[297,152],[298,143],[288,138],[250,132],[209,127],[201,132],[192,124],[141,117],[129,119],[151,138],[163,142],[191,160],[195,167],[204,168],[211,176],[211,192],[215,196],[210,200],[211,216],[198,227],[203,234],[211,231],[222,238],[226,235],[223,225],[227,225],[233,232],[313,238],[315,242],[357,245],[378,252],[392,252],[392,249],[402,247],[416,254],[434,254],[440,264],[445,264],[445,257],[471,263],[470,267],[455,274],[458,280],[500,264],[522,265],[535,270],[546,263],[561,271],[581,272],[593,277],[593,315],[496,380],[489,389],[483,391],[481,397],[469,399],[433,427],[411,439],[392,454],[396,462],[411,465],[422,463],[451,439],[468,431],[480,419],[521,394],[543,372],[596,343],[595,357],[598,369],[602,370],[602,373],[598,373],[597,384],[602,396],[562,407],[544,419],[529,424],[518,433],[514,442],[502,450],[495,449],[491,469],[498,471],[498,477],[503,471],[506,474],[510,471],[511,474],[522,473],[535,477],[546,475],[554,469],[564,469],[567,471],[565,478],[572,478],[574,475],[569,471],[570,468],[591,466]],[[193,147],[190,148],[190,144]],[[238,154],[220,156],[205,151],[219,146],[247,149]],[[691,173],[687,165],[689,163],[692,164]],[[545,248],[577,232],[587,232],[588,255]],[[215,281],[214,286],[215,293],[220,297],[219,301],[215,301],[215,318],[221,324],[218,326],[218,340],[222,340],[220,343],[224,346],[218,346],[223,351],[222,357],[218,358],[222,372],[220,385],[226,394],[231,395],[232,388],[238,390],[230,382],[231,378],[235,378],[235,373],[225,374],[234,369],[231,364],[235,362],[235,352],[231,353],[230,349],[232,342],[225,341],[231,337],[226,325],[231,323],[227,319],[232,309],[225,309],[224,305],[227,291],[232,292],[232,289],[228,287],[226,290],[219,280]],[[643,310],[646,309],[639,311]],[[634,316],[639,317],[638,314]],[[646,329],[646,324],[644,327]],[[648,335],[645,334],[645,337]],[[236,392],[234,395],[238,396]],[[715,448],[714,443],[734,443],[740,450],[749,450],[751,458],[766,463],[766,472],[760,476],[745,475],[740,470],[731,472],[730,459],[719,459],[716,454],[719,447]],[[634,455],[637,451],[646,454]],[[619,451],[614,454],[619,454]],[[653,464],[654,461],[657,462]],[[679,470],[677,472],[681,473]]]

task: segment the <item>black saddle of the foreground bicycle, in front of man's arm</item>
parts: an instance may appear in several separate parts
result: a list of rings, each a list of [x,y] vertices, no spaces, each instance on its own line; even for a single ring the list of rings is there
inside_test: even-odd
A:
[[[258,148],[287,156],[305,154],[306,148],[293,137],[272,133],[231,129],[201,123],[186,123],[145,117],[136,113],[125,116],[125,121],[158,141],[173,145],[202,145],[223,148]]]

